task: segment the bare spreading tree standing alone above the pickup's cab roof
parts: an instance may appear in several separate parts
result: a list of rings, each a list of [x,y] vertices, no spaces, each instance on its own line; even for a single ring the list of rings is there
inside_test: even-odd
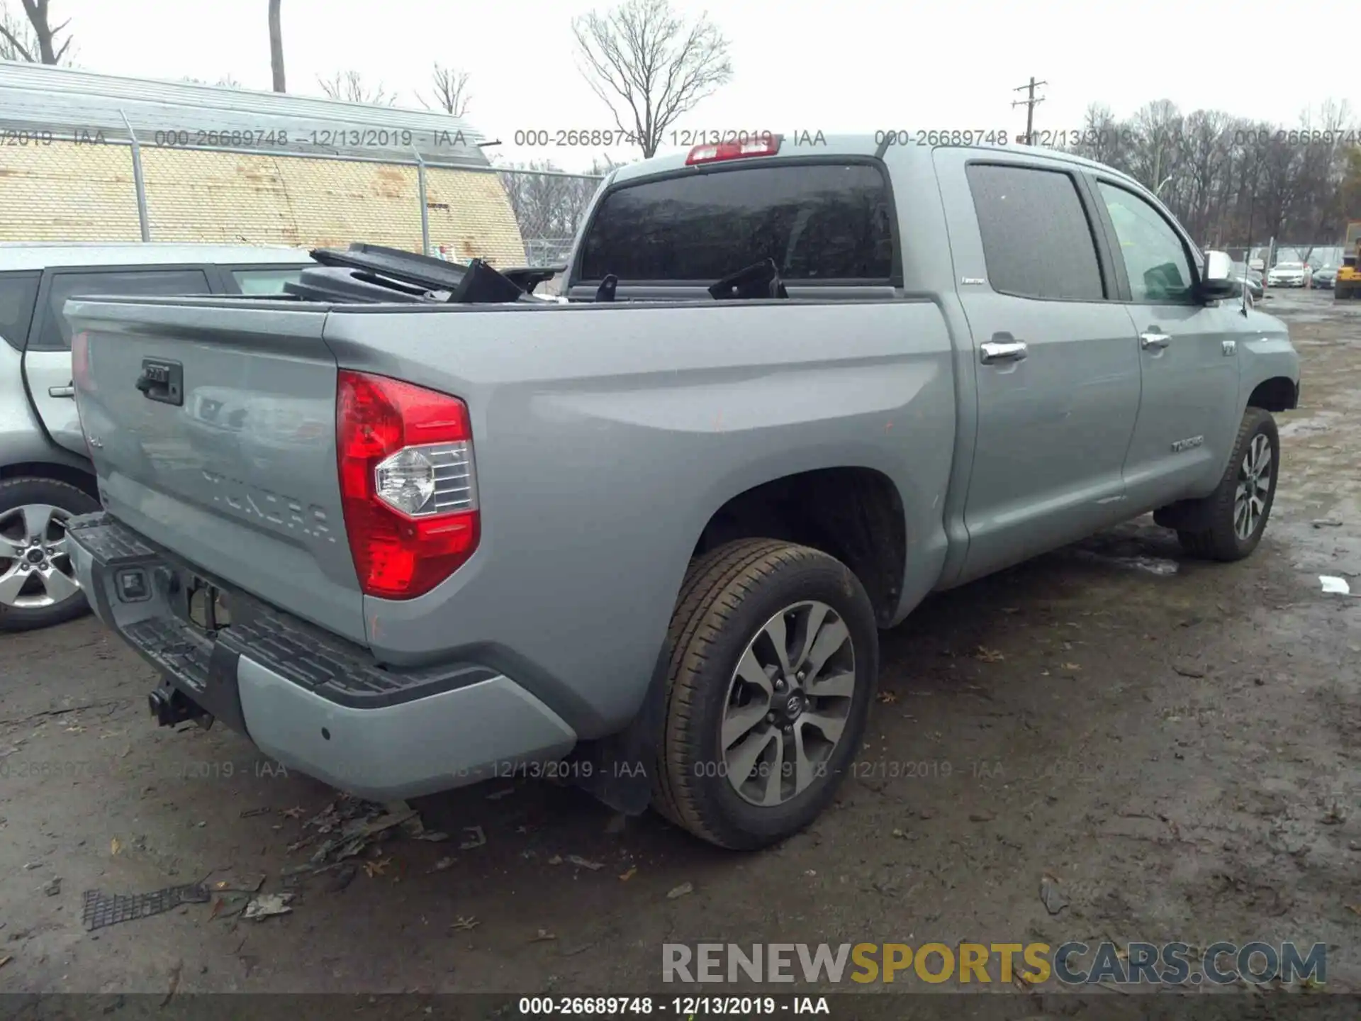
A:
[[[581,74],[644,158],[656,154],[680,114],[732,78],[728,42],[708,15],[686,25],[668,0],[592,11],[573,19],[572,31]]]

